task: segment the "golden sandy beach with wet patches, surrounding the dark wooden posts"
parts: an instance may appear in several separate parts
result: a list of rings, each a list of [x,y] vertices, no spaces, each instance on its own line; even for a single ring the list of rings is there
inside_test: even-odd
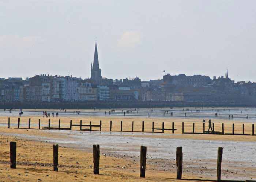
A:
[[[28,120],[31,118],[31,128]],[[182,134],[182,122],[185,132],[192,132],[195,122],[195,132],[202,132],[201,118],[164,118],[141,116],[59,116],[50,117],[51,127],[69,128],[72,124],[99,124],[102,121],[102,131],[82,130],[72,127],[69,130],[38,130],[38,119],[41,128],[48,126],[49,118],[42,116],[20,117],[20,128],[17,128],[18,117],[10,117],[10,128],[7,128],[8,117],[0,116],[1,162],[0,178],[2,181],[176,181],[175,155],[176,147],[183,147],[182,179],[186,181],[215,180],[217,148],[223,147],[222,179],[245,180],[256,179],[256,136],[252,135],[211,135],[211,134]],[[109,123],[112,120],[112,132]],[[123,131],[120,132],[120,121]],[[134,131],[131,132],[132,121]],[[144,131],[142,131],[144,121]],[[150,133],[152,122],[155,127],[171,128],[175,123],[177,131]],[[212,120],[215,131],[221,131],[221,123],[225,123],[225,133],[252,133],[252,123],[237,122],[222,118]],[[206,130],[208,123],[206,122]],[[9,145],[17,141],[17,169],[10,169]],[[53,172],[52,145],[58,143],[59,172]],[[93,175],[92,145],[99,144],[101,150],[100,174]],[[140,145],[147,146],[146,178],[139,178],[139,149]],[[247,149],[247,150],[245,150]],[[78,163],[76,163],[78,162]],[[26,175],[27,174],[27,175]],[[86,176],[86,177],[85,177]],[[191,179],[191,180],[189,180]],[[0,180],[0,181],[1,181]],[[40,181],[40,180],[39,180]]]

